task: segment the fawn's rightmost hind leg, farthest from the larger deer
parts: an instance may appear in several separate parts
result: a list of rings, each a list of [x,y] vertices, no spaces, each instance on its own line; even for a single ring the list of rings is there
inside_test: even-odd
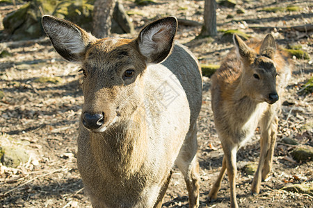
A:
[[[274,149],[276,144],[276,137],[277,137],[277,131],[278,131],[278,116],[275,116],[273,119],[273,123],[271,124],[271,140],[270,145],[268,148],[268,153],[266,155],[266,159],[264,162],[264,166],[262,169],[262,180],[266,180],[268,177],[268,173],[272,169],[272,163],[273,163],[273,155],[274,155]]]

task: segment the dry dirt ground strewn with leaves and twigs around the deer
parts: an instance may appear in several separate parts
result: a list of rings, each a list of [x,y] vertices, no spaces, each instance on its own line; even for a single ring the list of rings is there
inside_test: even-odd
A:
[[[157,4],[136,6],[134,1],[122,1],[131,15],[136,31],[152,19],[174,15],[182,19],[203,21],[204,1],[158,0]],[[270,6],[299,6],[296,12],[265,12]],[[243,8],[244,14],[236,14]],[[0,4],[0,17],[16,7]],[[233,15],[233,19],[227,19]],[[236,8],[218,6],[218,30],[239,29],[262,38],[272,33],[283,47],[300,44],[313,57],[313,34],[282,27],[312,24],[313,3],[292,1],[237,1]],[[277,29],[262,31],[252,26],[271,26]],[[0,31],[3,30],[0,24]],[[232,49],[231,42],[224,42],[222,33],[214,38],[195,39],[201,26],[179,25],[176,40],[188,46],[203,64],[219,64]],[[125,35],[123,35],[125,37]],[[10,42],[1,40],[11,56],[0,58],[1,143],[22,146],[31,155],[28,162],[17,168],[0,165],[0,207],[91,207],[83,191],[77,170],[77,135],[83,96],[79,87],[79,65],[65,62],[54,51],[49,40]],[[313,75],[311,60],[294,58],[286,95],[282,98],[278,144],[275,148],[273,171],[261,192],[250,196],[252,175],[243,166],[257,162],[259,157],[259,132],[237,154],[238,174],[236,194],[239,207],[312,207],[313,196],[281,190],[287,184],[305,184],[313,187],[313,162],[295,162],[291,158],[294,145],[282,142],[289,137],[298,144],[313,146],[312,94],[303,94],[303,85]],[[40,77],[59,77],[58,83],[38,83]],[[220,171],[223,150],[211,112],[210,78],[203,78],[202,111],[198,119],[198,157],[200,161],[200,207],[229,207],[230,189],[227,177],[215,202],[207,202],[207,195]],[[182,174],[174,168],[172,180],[163,207],[188,207],[188,193]]]

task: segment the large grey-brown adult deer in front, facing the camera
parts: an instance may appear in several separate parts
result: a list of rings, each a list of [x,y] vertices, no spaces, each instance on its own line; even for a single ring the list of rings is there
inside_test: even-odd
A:
[[[48,15],[42,25],[56,51],[82,66],[77,162],[93,207],[161,207],[174,164],[198,207],[202,77],[191,52],[173,44],[177,19],[134,39],[97,39]]]

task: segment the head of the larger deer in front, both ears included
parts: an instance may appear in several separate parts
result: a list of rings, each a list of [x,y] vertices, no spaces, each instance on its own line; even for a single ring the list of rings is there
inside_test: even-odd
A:
[[[83,125],[91,132],[104,132],[127,120],[143,103],[147,65],[157,64],[170,54],[177,19],[154,21],[132,40],[97,39],[70,21],[49,15],[42,17],[42,26],[63,58],[81,64]]]

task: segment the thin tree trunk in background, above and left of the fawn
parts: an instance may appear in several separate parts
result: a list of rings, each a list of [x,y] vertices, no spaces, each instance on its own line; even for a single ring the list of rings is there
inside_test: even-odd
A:
[[[205,0],[204,26],[202,26],[201,35],[215,36],[216,34],[216,0]]]

